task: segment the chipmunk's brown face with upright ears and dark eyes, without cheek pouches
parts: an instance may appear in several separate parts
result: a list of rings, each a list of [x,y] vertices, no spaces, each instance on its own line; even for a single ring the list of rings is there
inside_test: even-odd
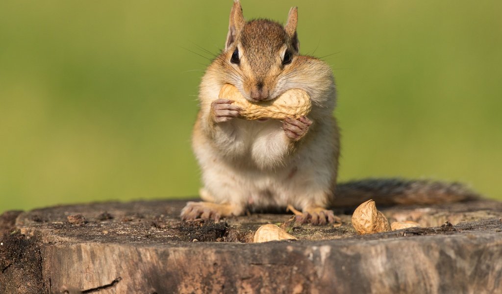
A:
[[[269,20],[245,22],[239,1],[234,1],[221,62],[246,99],[271,100],[286,90],[281,79],[287,78],[298,56],[297,23],[296,7],[284,27]]]

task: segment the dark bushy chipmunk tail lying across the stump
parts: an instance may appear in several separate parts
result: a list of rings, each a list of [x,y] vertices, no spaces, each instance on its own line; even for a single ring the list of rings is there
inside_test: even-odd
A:
[[[479,198],[478,193],[456,182],[363,179],[338,184],[332,206],[355,207],[369,199],[387,206],[451,203]]]

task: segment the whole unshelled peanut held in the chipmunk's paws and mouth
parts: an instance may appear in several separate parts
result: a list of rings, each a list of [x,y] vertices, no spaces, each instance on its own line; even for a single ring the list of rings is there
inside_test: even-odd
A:
[[[300,89],[287,90],[274,100],[253,103],[244,98],[235,86],[224,84],[221,87],[219,98],[233,100],[233,105],[242,108],[240,114],[248,120],[299,117],[307,115],[312,109],[309,95]]]

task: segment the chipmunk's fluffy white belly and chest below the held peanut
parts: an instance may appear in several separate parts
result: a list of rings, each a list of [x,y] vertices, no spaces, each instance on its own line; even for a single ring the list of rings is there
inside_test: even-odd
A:
[[[290,142],[278,121],[237,123],[226,132],[233,137],[219,138],[231,142],[223,154],[209,143],[198,144],[195,150],[205,189],[214,202],[260,210],[288,204],[303,207],[310,194],[319,195],[319,179],[312,178],[319,167],[301,151],[288,154]]]

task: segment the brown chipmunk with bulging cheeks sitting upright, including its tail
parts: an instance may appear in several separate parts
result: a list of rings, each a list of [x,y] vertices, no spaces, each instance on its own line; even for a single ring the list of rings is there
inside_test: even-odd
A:
[[[336,185],[340,134],[333,110],[334,78],[329,65],[299,54],[298,10],[286,25],[244,21],[235,0],[225,48],[207,68],[199,89],[200,110],[192,146],[202,170],[203,202],[188,202],[183,220],[242,215],[287,205],[300,209],[301,223],[323,225],[335,216],[329,207],[458,201],[477,195],[462,185],[400,179],[369,179]],[[224,84],[249,101],[277,98],[302,89],[311,99],[307,116],[244,120],[232,100],[218,98]]]

